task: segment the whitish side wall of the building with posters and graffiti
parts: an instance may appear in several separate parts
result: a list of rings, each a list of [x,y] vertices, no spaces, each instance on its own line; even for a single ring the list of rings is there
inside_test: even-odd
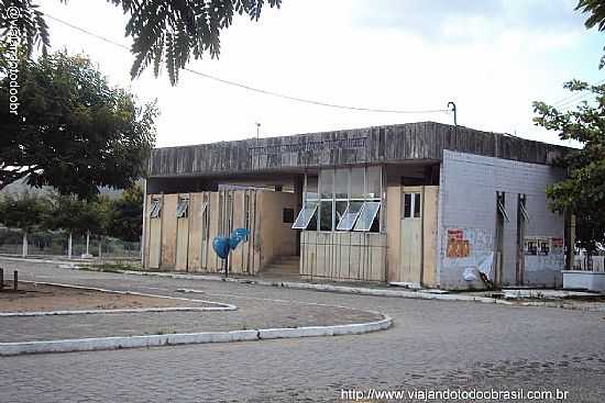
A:
[[[564,220],[548,210],[546,197],[547,186],[562,177],[562,169],[550,166],[444,150],[438,236],[440,287],[484,287],[480,280],[463,280],[463,272],[468,267],[476,267],[480,259],[486,258],[494,250],[496,191],[506,192],[509,216],[509,222],[504,224],[503,286],[515,284],[517,195],[527,194],[530,221],[527,223],[526,236],[563,237]],[[447,257],[448,228],[463,231],[471,245],[469,257]],[[562,256],[553,256],[541,262],[527,261],[526,284],[560,284],[562,265]]]

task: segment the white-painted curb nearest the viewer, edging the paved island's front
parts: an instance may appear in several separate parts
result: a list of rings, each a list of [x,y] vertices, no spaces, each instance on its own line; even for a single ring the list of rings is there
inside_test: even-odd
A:
[[[383,315],[383,320],[381,321],[355,323],[350,325],[0,343],[0,356],[112,350],[121,348],[177,346],[186,344],[255,342],[274,338],[359,335],[387,329],[392,324],[393,320],[389,316]]]

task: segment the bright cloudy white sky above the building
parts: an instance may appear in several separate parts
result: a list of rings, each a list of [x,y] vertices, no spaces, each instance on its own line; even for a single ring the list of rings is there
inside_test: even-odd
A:
[[[128,18],[106,0],[38,0],[52,16],[130,45]],[[458,123],[561,143],[532,123],[531,102],[570,97],[562,83],[597,82],[603,34],[576,0],[283,0],[258,22],[234,18],[219,59],[187,66],[292,97],[400,111],[458,107]],[[179,146],[406,122],[453,123],[448,112],[345,111],[273,98],[183,71],[131,80],[128,51],[47,19],[53,49],[85,53],[111,85],[157,99],[157,146]]]

